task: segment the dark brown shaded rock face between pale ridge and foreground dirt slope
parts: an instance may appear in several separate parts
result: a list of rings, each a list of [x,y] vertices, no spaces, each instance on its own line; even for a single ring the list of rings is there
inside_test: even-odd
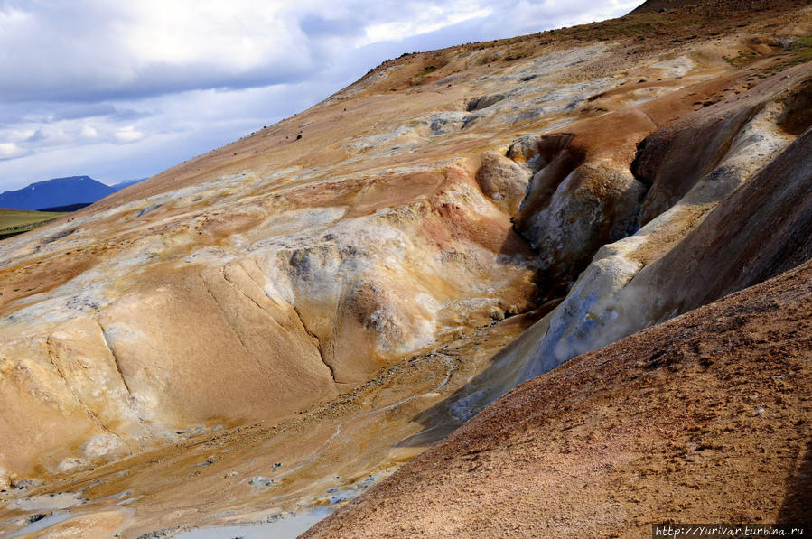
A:
[[[631,286],[658,290],[664,305],[677,304],[685,312],[808,260],[812,257],[812,237],[807,234],[812,230],[809,155],[812,130],[733,191],[680,245],[644,268],[640,283],[632,281]],[[765,200],[770,200],[769,206]],[[703,282],[697,285],[699,279]],[[667,286],[658,287],[665,281]],[[679,300],[669,301],[668,294]]]

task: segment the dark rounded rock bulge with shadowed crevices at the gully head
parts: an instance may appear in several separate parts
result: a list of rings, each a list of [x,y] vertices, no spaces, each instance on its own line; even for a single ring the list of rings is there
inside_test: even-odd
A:
[[[565,295],[604,245],[634,234],[649,185],[607,159],[588,159],[572,134],[528,136],[507,156],[533,172],[513,226],[537,252],[539,288]]]

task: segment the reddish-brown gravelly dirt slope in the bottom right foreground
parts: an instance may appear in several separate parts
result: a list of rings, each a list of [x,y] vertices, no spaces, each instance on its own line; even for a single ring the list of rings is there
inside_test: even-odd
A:
[[[810,522],[812,263],[499,399],[309,537]]]

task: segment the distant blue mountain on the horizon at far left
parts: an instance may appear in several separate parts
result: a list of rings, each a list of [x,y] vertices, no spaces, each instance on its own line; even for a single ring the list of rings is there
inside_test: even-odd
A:
[[[113,186],[105,185],[89,176],[37,181],[17,191],[0,193],[0,208],[43,209],[80,204],[87,206],[142,180],[144,178],[121,181]]]

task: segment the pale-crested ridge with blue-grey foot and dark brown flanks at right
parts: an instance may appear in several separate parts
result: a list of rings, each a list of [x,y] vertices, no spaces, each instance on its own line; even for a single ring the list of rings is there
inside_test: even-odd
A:
[[[806,71],[796,76],[765,81],[749,99],[643,139],[633,168],[651,185],[639,205],[645,226],[602,246],[564,302],[531,330],[526,339],[537,345],[527,378],[812,256],[804,232],[812,138],[794,140],[781,125],[794,96],[809,94]]]

